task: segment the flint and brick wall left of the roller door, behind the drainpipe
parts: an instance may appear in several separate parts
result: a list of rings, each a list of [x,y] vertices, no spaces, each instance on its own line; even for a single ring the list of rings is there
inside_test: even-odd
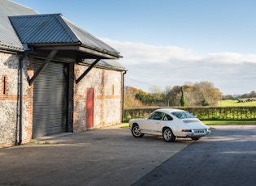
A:
[[[17,54],[0,53],[0,148],[13,146],[19,140],[20,97],[19,97],[19,57]],[[27,71],[27,59],[24,59]],[[24,71],[23,70],[23,71]],[[28,71],[27,71],[28,72]],[[23,142],[31,140],[33,98],[24,75],[23,104]]]

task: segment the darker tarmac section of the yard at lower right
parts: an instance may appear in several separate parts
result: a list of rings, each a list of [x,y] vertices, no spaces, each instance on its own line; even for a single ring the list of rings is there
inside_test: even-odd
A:
[[[256,125],[215,126],[132,186],[254,186]]]

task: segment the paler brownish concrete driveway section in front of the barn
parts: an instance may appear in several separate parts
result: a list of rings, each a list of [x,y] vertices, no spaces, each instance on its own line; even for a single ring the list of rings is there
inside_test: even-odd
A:
[[[135,138],[120,126],[2,149],[0,185],[131,185],[193,142]]]

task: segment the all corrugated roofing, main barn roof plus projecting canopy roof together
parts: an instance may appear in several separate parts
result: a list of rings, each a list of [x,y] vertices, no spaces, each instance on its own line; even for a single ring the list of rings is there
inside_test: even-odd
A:
[[[0,3],[0,47],[26,50],[27,45],[79,44],[80,53],[95,51],[97,54],[93,54],[98,57],[102,54],[106,58],[121,57],[118,51],[61,14],[39,15],[15,2],[0,0]]]

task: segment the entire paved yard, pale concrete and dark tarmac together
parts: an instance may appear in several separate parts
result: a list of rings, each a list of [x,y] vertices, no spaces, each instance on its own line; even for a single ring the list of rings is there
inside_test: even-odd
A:
[[[124,124],[128,125],[128,124]],[[256,126],[199,141],[132,137],[115,125],[0,150],[0,185],[255,185]]]

